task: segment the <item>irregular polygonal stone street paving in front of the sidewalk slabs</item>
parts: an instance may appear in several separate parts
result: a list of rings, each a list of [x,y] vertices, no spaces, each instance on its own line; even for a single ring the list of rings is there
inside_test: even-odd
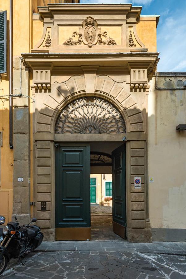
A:
[[[53,279],[185,279],[186,256],[136,252],[53,251],[13,260],[1,277]]]

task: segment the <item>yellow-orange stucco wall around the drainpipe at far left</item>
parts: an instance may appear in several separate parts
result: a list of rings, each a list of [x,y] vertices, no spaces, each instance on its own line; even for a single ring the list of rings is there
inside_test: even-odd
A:
[[[16,56],[21,56],[21,52],[29,52],[31,50],[31,0],[22,1],[14,0],[13,6],[13,61]],[[0,10],[7,11],[7,22],[9,21],[9,1],[0,2]],[[9,77],[8,77],[8,29],[7,24],[7,73],[2,74],[0,81],[0,95],[9,94]],[[13,69],[14,71],[14,69]],[[14,87],[13,87],[14,90]],[[9,100],[7,97],[0,100],[0,131],[3,131],[3,146],[1,148],[1,177],[0,177],[0,195],[7,196],[9,203],[9,212],[6,217],[6,222],[11,220],[12,205],[13,205],[13,150],[9,147]],[[12,164],[12,166],[11,166]],[[7,190],[7,191],[5,191]],[[0,214],[2,214],[3,205],[0,203]],[[7,218],[9,220],[7,220]]]

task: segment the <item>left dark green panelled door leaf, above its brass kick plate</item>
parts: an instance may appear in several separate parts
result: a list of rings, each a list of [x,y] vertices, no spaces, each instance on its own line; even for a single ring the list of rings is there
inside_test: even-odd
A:
[[[90,146],[55,148],[55,227],[90,227]]]

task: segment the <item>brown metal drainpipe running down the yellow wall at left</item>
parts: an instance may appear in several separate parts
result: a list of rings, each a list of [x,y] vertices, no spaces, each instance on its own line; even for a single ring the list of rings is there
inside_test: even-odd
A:
[[[9,26],[9,95],[13,95],[13,0],[10,0],[10,26]],[[13,124],[12,124],[13,102],[9,96],[9,145],[13,149]]]

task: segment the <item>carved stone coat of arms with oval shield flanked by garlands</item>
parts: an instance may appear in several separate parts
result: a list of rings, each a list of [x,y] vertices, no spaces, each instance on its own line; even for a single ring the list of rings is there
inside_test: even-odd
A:
[[[89,16],[82,22],[81,28],[79,28],[78,32],[73,32],[72,37],[78,36],[77,40],[74,40],[73,38],[67,39],[65,42],[63,42],[63,45],[65,46],[75,46],[75,45],[81,45],[84,43],[84,45],[88,45],[88,47],[92,47],[93,45],[96,45],[97,43],[99,45],[117,45],[115,40],[113,38],[107,38],[107,32],[101,31],[101,27],[98,27],[97,20],[95,20],[93,17]],[[106,39],[104,40],[103,37]]]

